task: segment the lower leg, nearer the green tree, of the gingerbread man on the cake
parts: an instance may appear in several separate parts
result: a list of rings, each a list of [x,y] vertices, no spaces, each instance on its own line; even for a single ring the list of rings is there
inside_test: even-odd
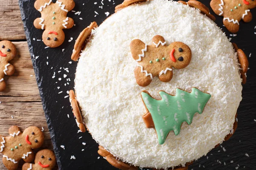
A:
[[[135,79],[137,84],[140,85],[141,87],[148,86],[152,81],[151,76],[150,75],[146,76],[146,72],[143,70],[143,68],[139,66],[135,68],[134,74],[135,74]]]

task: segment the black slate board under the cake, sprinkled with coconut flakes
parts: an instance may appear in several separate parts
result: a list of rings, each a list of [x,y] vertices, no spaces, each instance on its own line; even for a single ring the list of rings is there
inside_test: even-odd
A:
[[[35,0],[20,0],[19,2],[45,116],[58,167],[61,170],[116,169],[102,157],[98,158],[98,144],[88,132],[78,133],[79,129],[73,119],[67,91],[73,89],[74,86],[77,62],[73,62],[70,56],[79,33],[93,21],[96,21],[98,25],[102,23],[107,18],[105,12],[108,11],[112,14],[114,7],[122,1],[75,0],[76,7],[73,10],[81,11],[81,14],[77,15],[71,11],[68,13],[68,17],[74,19],[76,26],[64,30],[66,38],[58,48],[45,48],[46,45],[42,41],[38,41],[41,40],[43,31],[33,26],[35,18],[41,17],[41,14],[34,8]],[[204,1],[204,3],[209,7],[209,1]],[[247,72],[247,83],[243,85],[243,100],[238,109],[239,126],[236,133],[228,142],[221,144],[221,147],[213,149],[207,156],[195,161],[189,170],[256,169],[256,67],[254,67],[256,64],[256,33],[254,33],[256,32],[256,9],[251,12],[254,16],[253,20],[250,23],[241,22],[240,31],[235,37],[230,36],[231,33],[222,26],[222,17],[216,17],[218,26],[223,28],[227,36],[232,38],[231,41],[236,42],[239,48],[247,54],[250,69]],[[212,10],[211,13],[213,14]],[[71,37],[73,40],[69,42]],[[249,57],[250,53],[251,57]],[[65,70],[66,68],[69,72]],[[66,78],[64,78],[64,74],[67,75]],[[62,93],[60,93],[61,91]],[[68,114],[70,118],[68,118]],[[86,145],[82,142],[85,142]],[[82,149],[84,150],[82,151]],[[249,157],[245,155],[246,153]],[[70,159],[71,156],[75,156],[76,159]]]

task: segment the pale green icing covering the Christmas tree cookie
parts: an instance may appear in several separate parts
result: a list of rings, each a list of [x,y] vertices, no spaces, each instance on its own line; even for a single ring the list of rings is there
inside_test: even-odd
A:
[[[151,113],[159,144],[165,142],[171,130],[178,135],[183,122],[190,125],[195,113],[201,114],[211,97],[197,88],[192,88],[191,93],[176,88],[175,96],[164,91],[159,94],[161,100],[154,99],[147,91],[141,93],[145,107]]]

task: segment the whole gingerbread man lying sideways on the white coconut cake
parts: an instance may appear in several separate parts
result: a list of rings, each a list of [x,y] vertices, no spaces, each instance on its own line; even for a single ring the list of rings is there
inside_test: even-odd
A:
[[[141,40],[132,40],[130,44],[131,54],[138,62],[134,70],[136,82],[145,87],[154,77],[159,77],[162,82],[172,79],[172,68],[185,68],[192,57],[188,45],[183,42],[172,42],[166,45],[166,41],[160,35],[152,39],[152,45],[147,45]]]

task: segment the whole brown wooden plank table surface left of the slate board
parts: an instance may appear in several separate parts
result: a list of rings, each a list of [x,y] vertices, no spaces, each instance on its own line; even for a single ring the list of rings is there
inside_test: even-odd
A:
[[[12,125],[19,126],[22,131],[29,126],[43,127],[45,141],[41,148],[52,149],[18,0],[0,0],[1,40],[11,40],[16,45],[17,55],[10,62],[15,66],[15,74],[4,77],[7,88],[0,92],[0,134],[9,136],[8,130]],[[2,154],[0,158],[0,170],[6,170],[2,164]]]

